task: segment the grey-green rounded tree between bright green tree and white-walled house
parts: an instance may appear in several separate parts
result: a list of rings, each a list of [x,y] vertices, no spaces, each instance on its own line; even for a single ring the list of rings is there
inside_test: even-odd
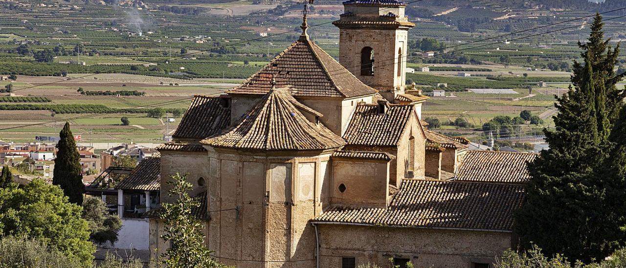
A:
[[[109,214],[106,204],[101,198],[87,195],[83,200],[83,219],[89,224],[89,239],[96,244],[110,242],[115,244],[121,229],[118,215]]]

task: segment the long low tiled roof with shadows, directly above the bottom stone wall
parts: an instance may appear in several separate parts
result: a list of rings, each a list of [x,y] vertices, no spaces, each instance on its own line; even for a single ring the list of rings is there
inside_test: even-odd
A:
[[[510,232],[523,191],[515,184],[405,179],[387,209],[336,206],[312,221]]]

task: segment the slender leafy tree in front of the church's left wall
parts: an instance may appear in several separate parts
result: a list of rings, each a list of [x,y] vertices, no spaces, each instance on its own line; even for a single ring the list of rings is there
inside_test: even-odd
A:
[[[163,255],[163,263],[172,268],[185,267],[225,267],[211,257],[211,251],[204,245],[202,223],[192,215],[194,207],[200,202],[187,193],[192,184],[187,182],[187,175],[170,176],[167,183],[171,185],[169,197],[177,196],[173,203],[164,203],[160,215],[165,222],[165,232],[161,236],[170,248]]]

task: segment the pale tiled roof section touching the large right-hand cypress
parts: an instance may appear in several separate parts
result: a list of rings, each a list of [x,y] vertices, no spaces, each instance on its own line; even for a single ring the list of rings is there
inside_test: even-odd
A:
[[[533,161],[535,153],[468,151],[456,172],[456,180],[471,182],[523,183],[530,174],[526,162]]]

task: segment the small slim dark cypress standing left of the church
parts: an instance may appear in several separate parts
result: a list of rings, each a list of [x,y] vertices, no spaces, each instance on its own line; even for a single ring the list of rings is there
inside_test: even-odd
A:
[[[63,189],[63,193],[69,197],[69,202],[81,205],[85,185],[83,185],[83,175],[81,175],[80,154],[68,122],[63,126],[59,137],[61,139],[56,145],[58,152],[54,159],[52,184],[59,185]]]

